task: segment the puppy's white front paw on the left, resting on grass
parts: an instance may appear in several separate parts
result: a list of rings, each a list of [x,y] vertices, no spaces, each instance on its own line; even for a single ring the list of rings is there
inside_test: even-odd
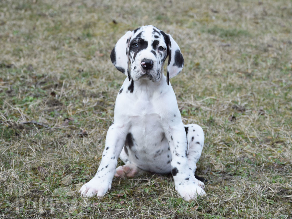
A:
[[[94,195],[101,197],[112,187],[111,183],[102,181],[100,178],[92,178],[88,183],[85,183],[79,193],[83,197],[92,197]]]

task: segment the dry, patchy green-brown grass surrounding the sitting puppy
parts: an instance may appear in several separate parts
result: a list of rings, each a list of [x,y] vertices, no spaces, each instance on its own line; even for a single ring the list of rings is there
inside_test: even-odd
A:
[[[291,11],[272,0],[1,0],[0,218],[291,218]],[[171,83],[183,122],[204,129],[207,194],[183,201],[171,175],[148,174],[82,199],[125,77],[110,51],[146,24],[184,55]]]

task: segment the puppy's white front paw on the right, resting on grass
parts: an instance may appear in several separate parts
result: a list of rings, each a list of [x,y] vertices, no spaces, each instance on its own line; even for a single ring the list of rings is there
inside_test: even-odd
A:
[[[203,183],[204,185],[204,183]],[[175,183],[175,190],[180,194],[180,196],[185,200],[189,201],[191,199],[197,199],[198,196],[206,194],[206,192],[197,185],[195,182],[190,183]]]

